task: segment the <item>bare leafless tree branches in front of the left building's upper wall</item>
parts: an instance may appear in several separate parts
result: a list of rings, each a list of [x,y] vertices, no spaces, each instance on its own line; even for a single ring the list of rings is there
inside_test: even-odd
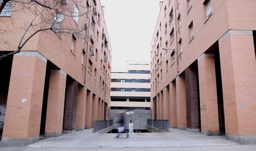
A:
[[[15,23],[12,14],[22,13],[30,16],[22,27],[23,33],[19,43],[12,44],[15,45],[15,49],[7,54],[0,54],[0,60],[20,52],[33,36],[43,31],[51,31],[58,36],[74,35],[88,41],[89,35],[85,34],[86,30],[92,29],[95,23],[100,22],[98,18],[90,23],[88,14],[95,10],[95,6],[88,4],[86,0],[0,0],[0,4],[0,15],[9,16],[9,19],[0,17],[0,23],[6,24],[6,27],[0,27],[0,44],[9,44],[1,35],[12,32],[8,29],[10,24]],[[87,23],[87,26],[77,26],[80,22]]]

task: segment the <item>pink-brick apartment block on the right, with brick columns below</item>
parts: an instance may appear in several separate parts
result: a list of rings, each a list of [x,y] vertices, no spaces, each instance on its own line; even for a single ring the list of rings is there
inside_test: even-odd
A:
[[[151,113],[256,143],[256,1],[164,0],[151,40]]]

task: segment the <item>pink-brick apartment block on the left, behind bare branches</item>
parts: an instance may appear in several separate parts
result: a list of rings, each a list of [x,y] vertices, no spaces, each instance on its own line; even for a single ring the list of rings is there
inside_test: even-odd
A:
[[[19,53],[0,60],[0,105],[5,112],[2,144],[27,145],[41,137],[92,128],[93,121],[108,118],[112,49],[105,7],[100,0],[81,2],[86,7],[74,1],[65,7],[74,14],[87,9],[87,15],[64,18],[62,23],[85,28],[85,38],[40,31]],[[11,10],[15,8],[11,5]],[[24,32],[22,26],[33,15],[11,11],[1,14],[0,20],[10,17],[14,24],[0,22],[1,30],[12,31],[1,35],[8,41],[0,44],[1,54],[15,50]]]

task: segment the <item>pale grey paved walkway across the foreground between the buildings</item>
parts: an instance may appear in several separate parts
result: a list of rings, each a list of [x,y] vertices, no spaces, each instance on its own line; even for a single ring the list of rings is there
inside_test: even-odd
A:
[[[171,133],[133,133],[128,139],[116,134],[95,134],[92,129],[43,139],[27,147],[0,150],[255,150],[256,145],[239,145],[224,136],[205,136],[179,129]]]

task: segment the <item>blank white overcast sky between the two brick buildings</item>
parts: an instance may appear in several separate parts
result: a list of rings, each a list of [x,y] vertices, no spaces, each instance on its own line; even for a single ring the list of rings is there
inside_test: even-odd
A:
[[[126,60],[150,63],[150,42],[159,13],[159,0],[100,0],[112,52],[112,67],[126,68]]]

